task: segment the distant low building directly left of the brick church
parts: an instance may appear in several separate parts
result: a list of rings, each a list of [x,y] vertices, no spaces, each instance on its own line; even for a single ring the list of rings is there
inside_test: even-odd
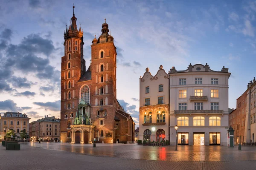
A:
[[[29,123],[29,136],[31,141],[60,140],[61,120],[55,116],[44,116],[42,119]]]

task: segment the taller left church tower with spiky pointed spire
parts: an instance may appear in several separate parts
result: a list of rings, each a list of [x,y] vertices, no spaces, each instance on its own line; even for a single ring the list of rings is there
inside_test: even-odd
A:
[[[79,103],[78,80],[85,71],[83,31],[76,25],[75,6],[70,26],[64,32],[64,57],[61,58],[61,139],[71,142],[73,117]],[[70,140],[70,141],[69,141]]]

